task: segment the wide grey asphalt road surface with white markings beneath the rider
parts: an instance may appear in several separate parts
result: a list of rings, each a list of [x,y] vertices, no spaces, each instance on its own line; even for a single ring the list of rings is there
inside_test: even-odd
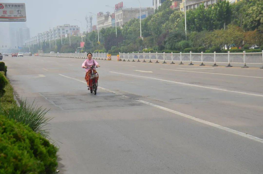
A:
[[[60,173],[262,173],[263,71],[4,57],[18,99],[51,109]]]

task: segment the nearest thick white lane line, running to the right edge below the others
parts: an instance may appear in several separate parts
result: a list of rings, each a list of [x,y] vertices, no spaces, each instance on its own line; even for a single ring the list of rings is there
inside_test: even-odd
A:
[[[253,135],[246,134],[246,133],[244,133],[244,132],[240,132],[240,131],[237,131],[237,130],[234,130],[234,129],[230,129],[230,128],[228,128],[228,127],[224,127],[224,126],[221,126],[221,125],[218,125],[218,124],[209,122],[209,121],[201,120],[201,119],[199,119],[199,118],[196,118],[196,117],[193,117],[193,116],[190,116],[190,115],[187,115],[187,114],[183,114],[183,113],[178,112],[178,111],[175,111],[175,110],[171,110],[171,109],[168,109],[168,108],[164,108],[163,106],[155,105],[155,104],[149,103],[149,102],[147,102],[147,101],[143,101],[143,100],[136,100],[136,101],[139,101],[139,102],[144,103],[144,104],[146,104],[146,105],[150,105],[150,106],[153,106],[153,107],[155,107],[155,108],[158,108],[158,109],[161,109],[161,110],[165,110],[165,111],[174,113],[174,114],[176,114],[176,115],[180,115],[180,116],[183,116],[183,117],[185,117],[185,118],[188,118],[188,119],[191,119],[191,120],[194,120],[194,121],[197,121],[197,122],[200,122],[200,123],[209,125],[209,126],[213,126],[213,127],[218,128],[218,129],[225,130],[225,131],[227,131],[227,132],[231,132],[231,133],[233,133],[233,134],[240,135],[240,136],[242,136],[242,137],[246,137],[246,138],[248,138],[248,139],[251,139],[251,140],[254,140],[254,141],[263,143],[263,139],[261,139],[261,138],[259,138],[259,137],[255,137],[255,136],[253,136]]]

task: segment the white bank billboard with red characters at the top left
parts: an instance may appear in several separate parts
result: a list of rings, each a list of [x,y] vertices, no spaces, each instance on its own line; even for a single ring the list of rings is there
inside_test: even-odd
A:
[[[25,3],[1,3],[0,21],[27,21]]]

